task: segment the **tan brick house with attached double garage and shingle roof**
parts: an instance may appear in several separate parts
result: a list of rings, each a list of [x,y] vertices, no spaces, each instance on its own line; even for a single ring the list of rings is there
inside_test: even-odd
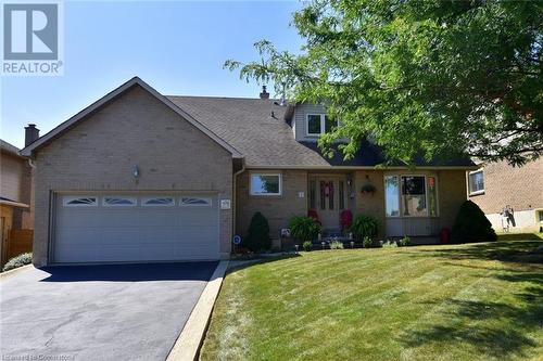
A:
[[[469,160],[376,169],[381,151],[324,157],[319,106],[164,96],[134,78],[25,147],[36,164],[35,263],[227,258],[261,211],[277,244],[295,215],[343,209],[381,237],[435,236],[466,199]],[[362,194],[370,183],[375,194]]]

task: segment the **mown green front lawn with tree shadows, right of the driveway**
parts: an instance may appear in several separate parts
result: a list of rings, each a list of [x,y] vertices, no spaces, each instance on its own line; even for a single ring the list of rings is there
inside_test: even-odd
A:
[[[523,256],[542,244],[312,252],[235,270],[201,359],[543,360],[543,265]]]

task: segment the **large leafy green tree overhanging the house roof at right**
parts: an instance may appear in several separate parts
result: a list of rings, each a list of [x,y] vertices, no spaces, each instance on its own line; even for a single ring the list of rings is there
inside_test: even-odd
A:
[[[390,160],[475,156],[522,165],[543,153],[540,1],[313,0],[294,13],[300,54],[255,43],[225,67],[323,103],[350,157],[371,138]]]

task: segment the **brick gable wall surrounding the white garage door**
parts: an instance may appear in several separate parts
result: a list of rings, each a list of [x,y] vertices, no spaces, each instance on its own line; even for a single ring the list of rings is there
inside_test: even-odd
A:
[[[217,191],[232,196],[231,155],[136,86],[36,154],[34,262],[48,261],[55,191]],[[136,181],[132,169],[141,177]],[[231,210],[220,210],[220,253],[228,255]]]

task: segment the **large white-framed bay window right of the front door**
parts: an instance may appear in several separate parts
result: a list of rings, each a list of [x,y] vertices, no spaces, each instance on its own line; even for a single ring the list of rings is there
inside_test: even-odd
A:
[[[438,217],[438,179],[434,176],[384,176],[387,217]]]

